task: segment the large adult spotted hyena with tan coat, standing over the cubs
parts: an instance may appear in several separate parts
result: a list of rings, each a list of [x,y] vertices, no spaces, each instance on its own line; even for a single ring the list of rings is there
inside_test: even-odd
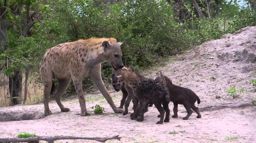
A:
[[[121,59],[121,44],[122,42],[117,43],[114,38],[90,38],[62,43],[48,49],[40,64],[40,74],[44,82],[44,115],[52,114],[48,102],[53,78],[59,82],[55,99],[60,110],[63,112],[70,110],[61,104],[60,97],[72,79],[81,107],[81,116],[90,115],[86,110],[82,89],[84,76],[92,78],[115,113],[122,113],[123,110],[117,108],[110,97],[100,74],[101,62],[103,61],[107,61],[115,69],[124,67]]]

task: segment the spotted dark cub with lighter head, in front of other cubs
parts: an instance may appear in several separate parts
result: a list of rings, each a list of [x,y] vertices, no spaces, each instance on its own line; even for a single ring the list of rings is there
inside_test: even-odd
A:
[[[133,69],[127,67],[115,70],[115,75],[117,75],[121,82],[131,87],[134,95],[139,99],[139,106],[136,108],[131,119],[143,121],[146,106],[149,102],[152,102],[160,112],[160,120],[156,124],[162,124],[163,121],[169,122],[170,109],[168,104],[170,103],[170,95],[165,86],[153,79],[148,79],[135,73]],[[164,119],[165,112],[166,115]],[[140,117],[138,118],[138,116]]]

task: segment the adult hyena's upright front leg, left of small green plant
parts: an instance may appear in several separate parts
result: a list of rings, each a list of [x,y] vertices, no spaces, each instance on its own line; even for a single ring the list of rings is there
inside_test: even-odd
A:
[[[90,113],[86,110],[86,105],[85,105],[85,99],[84,99],[84,93],[82,89],[82,79],[76,79],[73,78],[73,82],[76,88],[76,93],[79,99],[79,104],[81,107],[81,116],[88,116]]]

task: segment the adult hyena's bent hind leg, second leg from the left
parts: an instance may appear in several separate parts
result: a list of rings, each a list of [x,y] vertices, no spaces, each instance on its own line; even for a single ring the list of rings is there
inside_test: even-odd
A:
[[[57,102],[57,104],[60,107],[60,110],[62,112],[68,112],[70,111],[69,108],[65,108],[63,104],[61,104],[60,98],[63,95],[63,93],[67,90],[69,82],[70,82],[71,78],[68,79],[58,79],[59,85],[58,85],[58,89],[55,93],[55,100]]]

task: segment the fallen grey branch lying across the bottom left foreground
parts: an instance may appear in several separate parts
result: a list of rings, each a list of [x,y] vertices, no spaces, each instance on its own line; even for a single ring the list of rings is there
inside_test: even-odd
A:
[[[120,140],[121,138],[118,137],[119,135],[113,137],[106,137],[106,138],[95,138],[95,137],[73,137],[73,136],[52,136],[52,137],[30,137],[30,138],[0,138],[1,143],[7,142],[36,142],[39,140],[47,141],[48,143],[53,143],[55,140],[62,140],[62,139],[87,139],[87,140],[96,140],[100,142],[105,142],[109,139],[117,139]]]

